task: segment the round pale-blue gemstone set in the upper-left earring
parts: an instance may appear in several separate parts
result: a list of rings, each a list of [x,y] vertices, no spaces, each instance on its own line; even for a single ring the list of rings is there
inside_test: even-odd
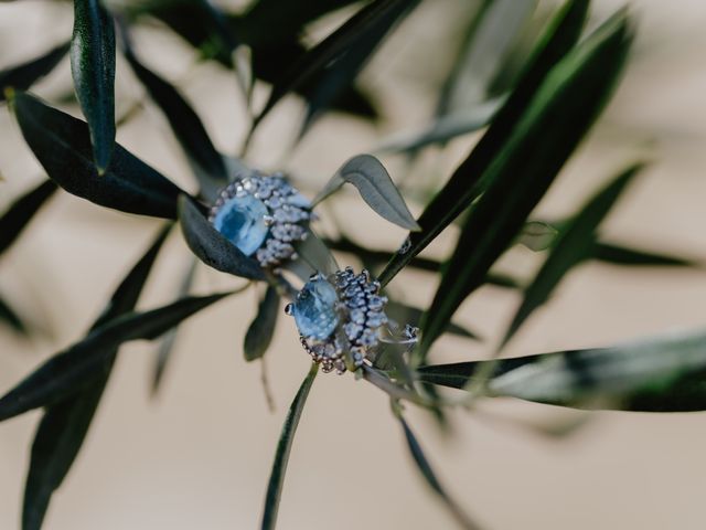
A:
[[[246,256],[257,251],[269,229],[265,224],[267,206],[253,195],[234,197],[218,209],[214,227],[226,236]]]

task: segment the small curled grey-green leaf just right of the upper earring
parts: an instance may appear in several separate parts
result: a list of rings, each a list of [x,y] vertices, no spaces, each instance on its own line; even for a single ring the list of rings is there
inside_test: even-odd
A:
[[[381,218],[403,229],[419,230],[389,173],[381,161],[371,155],[359,155],[341,166],[313,203],[323,201],[346,182],[357,188],[363,200]]]

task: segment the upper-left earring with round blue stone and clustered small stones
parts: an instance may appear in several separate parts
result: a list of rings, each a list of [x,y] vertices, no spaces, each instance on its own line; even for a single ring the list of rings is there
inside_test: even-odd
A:
[[[246,256],[271,268],[297,258],[308,235],[311,203],[281,173],[253,172],[221,190],[208,221]]]

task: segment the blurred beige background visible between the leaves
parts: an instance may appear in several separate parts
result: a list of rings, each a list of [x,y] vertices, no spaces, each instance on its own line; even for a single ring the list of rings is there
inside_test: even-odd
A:
[[[237,10],[243,2],[225,3]],[[468,2],[472,3],[472,2]],[[391,135],[425,126],[452,66],[468,23],[467,2],[425,0],[385,41],[359,85],[373,95],[377,123],[330,113],[292,149],[303,104],[288,97],[263,124],[247,161],[286,169],[309,194],[338,167],[375,150]],[[593,2],[600,21],[624,2]],[[536,18],[553,2],[541,2]],[[631,2],[637,44],[623,83],[590,138],[541,205],[546,218],[575,211],[591,190],[625,163],[648,158],[603,226],[611,241],[706,262],[706,3]],[[352,10],[309,29],[324,36]],[[29,60],[71,34],[69,3],[26,0],[0,4],[0,68]],[[32,39],[28,39],[32,35]],[[178,84],[216,146],[235,155],[248,121],[232,72],[197,63],[192,47],[164,28],[136,31],[145,62]],[[118,60],[118,116],[145,108],[118,130],[118,141],[188,189],[189,167],[159,110]],[[34,92],[60,102],[71,89],[67,59]],[[256,107],[268,88],[257,86]],[[66,103],[63,108],[77,114]],[[414,165],[382,156],[404,181],[410,208],[424,208],[478,135],[426,150]],[[0,108],[0,206],[35,186],[42,170],[7,107]],[[349,235],[396,248],[402,230],[378,219],[350,191],[323,210]],[[43,359],[79,338],[160,223],[95,206],[66,193],[52,199],[0,264],[0,292],[39,329],[25,339],[0,328],[0,392]],[[447,231],[429,254],[447,255]],[[347,256],[351,259],[351,256]],[[340,259],[344,262],[344,259]],[[140,307],[171,300],[190,254],[175,233],[154,269]],[[539,258],[526,248],[502,267],[530,277]],[[351,262],[356,268],[356,262]],[[405,273],[393,297],[420,307],[434,294],[430,275]],[[239,285],[199,267],[195,292]],[[45,522],[47,530],[256,528],[284,416],[308,370],[293,322],[284,316],[266,356],[276,403],[268,410],[263,364],[243,359],[245,330],[259,292],[231,297],[182,326],[158,395],[150,395],[154,343],[121,354],[87,442]],[[522,356],[598,347],[704,325],[706,273],[698,268],[627,268],[591,262],[573,272],[550,303],[506,350]],[[438,362],[480,359],[511,317],[518,295],[484,287],[457,314],[485,342],[443,338]],[[700,414],[580,413],[496,401],[454,411],[451,428],[410,410],[410,420],[440,478],[488,529],[702,529],[706,520],[706,425]],[[38,413],[0,424],[0,529],[19,528],[30,443]],[[299,426],[279,512],[281,529],[453,528],[417,476],[385,394],[351,377],[322,374]]]

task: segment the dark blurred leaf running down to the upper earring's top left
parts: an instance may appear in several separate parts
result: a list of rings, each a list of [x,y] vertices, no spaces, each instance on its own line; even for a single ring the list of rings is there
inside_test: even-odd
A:
[[[215,200],[218,190],[225,187],[228,180],[223,157],[213,146],[196,113],[176,88],[138,61],[127,34],[124,42],[125,57],[151,98],[162,109],[174,136],[194,166],[202,194],[207,200]]]

